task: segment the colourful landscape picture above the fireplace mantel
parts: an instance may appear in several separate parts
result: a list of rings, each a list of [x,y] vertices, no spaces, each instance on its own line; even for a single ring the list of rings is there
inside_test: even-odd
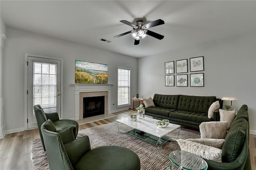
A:
[[[108,65],[76,60],[75,83],[107,84]]]

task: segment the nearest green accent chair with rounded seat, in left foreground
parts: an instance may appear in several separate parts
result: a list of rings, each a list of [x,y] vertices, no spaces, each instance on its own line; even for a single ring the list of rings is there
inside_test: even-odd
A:
[[[100,146],[91,149],[88,136],[63,144],[55,129],[50,120],[41,127],[51,170],[140,170],[138,155],[128,148]]]

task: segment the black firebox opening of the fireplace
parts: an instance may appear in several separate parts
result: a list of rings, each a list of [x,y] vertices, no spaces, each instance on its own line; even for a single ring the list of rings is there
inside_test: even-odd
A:
[[[83,98],[83,118],[104,115],[105,96]]]

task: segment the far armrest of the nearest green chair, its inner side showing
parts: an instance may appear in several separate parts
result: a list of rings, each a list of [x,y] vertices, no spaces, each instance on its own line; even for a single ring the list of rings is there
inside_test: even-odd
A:
[[[64,145],[68,158],[74,167],[87,152],[91,150],[88,136],[83,136]]]

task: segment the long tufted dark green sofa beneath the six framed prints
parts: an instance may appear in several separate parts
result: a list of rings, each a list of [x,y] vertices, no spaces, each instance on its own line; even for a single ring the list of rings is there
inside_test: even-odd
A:
[[[212,118],[208,118],[208,109],[215,101],[222,103],[215,96],[160,95],[155,94],[155,107],[146,107],[145,115],[154,119],[168,119],[170,123],[199,129],[202,122],[219,121],[220,114],[216,110]]]

